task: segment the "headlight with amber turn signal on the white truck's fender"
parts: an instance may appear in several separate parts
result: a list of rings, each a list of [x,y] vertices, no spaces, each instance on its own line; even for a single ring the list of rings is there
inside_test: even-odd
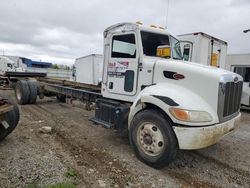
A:
[[[212,117],[205,111],[183,110],[179,108],[170,108],[170,113],[180,121],[188,122],[210,122]]]

